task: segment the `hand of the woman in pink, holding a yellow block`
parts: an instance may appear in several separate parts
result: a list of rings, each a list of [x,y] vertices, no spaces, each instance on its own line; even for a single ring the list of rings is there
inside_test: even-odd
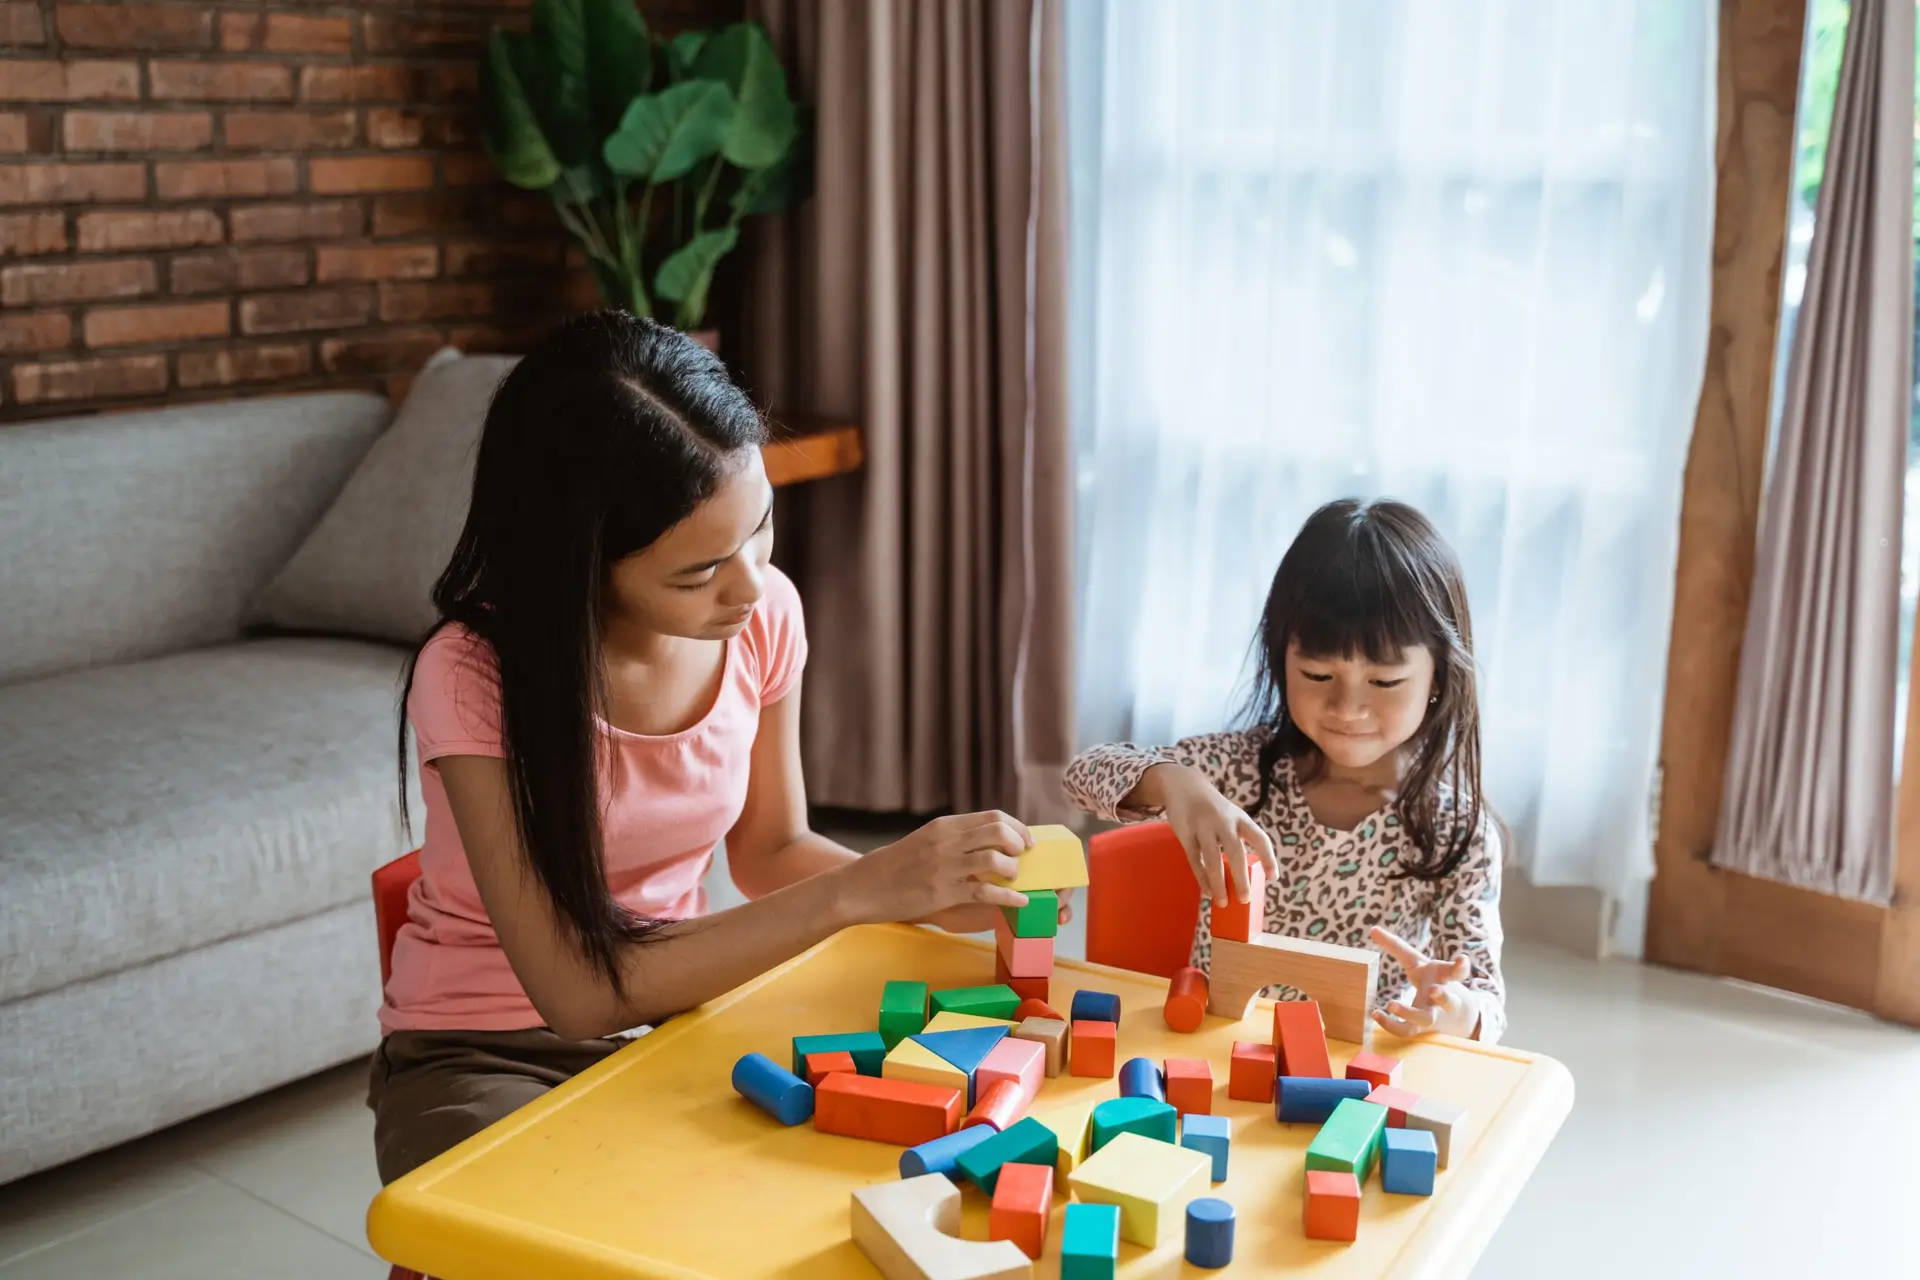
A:
[[[1033,835],[1006,814],[956,814],[833,875],[845,877],[843,904],[852,923],[927,919],[962,906],[1025,906],[1025,894],[989,879],[1012,879],[1031,846]],[[991,929],[993,917],[985,921]]]

